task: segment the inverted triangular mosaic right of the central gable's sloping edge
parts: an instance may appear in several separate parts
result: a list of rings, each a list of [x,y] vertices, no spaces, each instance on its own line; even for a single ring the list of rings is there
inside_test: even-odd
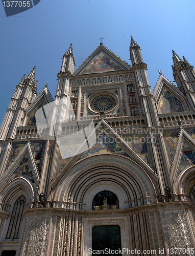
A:
[[[142,134],[123,135],[126,143],[138,154],[147,164],[150,164],[147,148],[147,137]]]

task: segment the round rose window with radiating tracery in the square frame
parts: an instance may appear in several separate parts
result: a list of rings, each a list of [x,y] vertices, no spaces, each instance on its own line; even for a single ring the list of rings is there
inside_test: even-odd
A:
[[[90,101],[90,109],[94,112],[110,112],[115,109],[117,99],[110,94],[96,95]]]

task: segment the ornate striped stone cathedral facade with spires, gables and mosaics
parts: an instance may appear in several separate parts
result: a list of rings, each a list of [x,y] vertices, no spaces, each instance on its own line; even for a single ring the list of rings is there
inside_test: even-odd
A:
[[[53,100],[35,68],[1,129],[0,253],[194,255],[195,71],[173,51],[177,86],[102,43],[75,71],[70,45]],[[178,250],[179,249],[179,250]]]

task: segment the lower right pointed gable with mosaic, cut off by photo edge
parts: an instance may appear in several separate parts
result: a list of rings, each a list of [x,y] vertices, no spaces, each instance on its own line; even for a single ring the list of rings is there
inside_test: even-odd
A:
[[[177,141],[175,156],[170,171],[172,180],[176,180],[183,170],[190,166],[195,165],[195,134],[190,137],[183,129]]]

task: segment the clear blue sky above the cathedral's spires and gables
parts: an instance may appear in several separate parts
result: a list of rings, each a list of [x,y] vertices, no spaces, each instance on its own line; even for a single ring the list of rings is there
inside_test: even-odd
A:
[[[103,44],[131,64],[131,35],[142,49],[152,90],[158,70],[173,81],[172,49],[191,65],[194,0],[41,0],[34,8],[6,17],[0,3],[0,122],[23,74],[36,66],[39,93],[48,82],[55,96],[61,58],[72,43],[76,68]]]

